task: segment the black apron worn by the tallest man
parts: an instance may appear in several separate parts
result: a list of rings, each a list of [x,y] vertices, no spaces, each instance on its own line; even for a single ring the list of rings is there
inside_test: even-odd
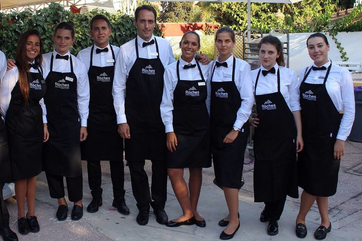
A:
[[[126,82],[125,99],[125,113],[131,134],[131,139],[125,139],[128,161],[165,160],[165,125],[160,111],[165,68],[156,38],[155,44],[158,54],[156,59],[139,58],[135,39],[137,58]]]

